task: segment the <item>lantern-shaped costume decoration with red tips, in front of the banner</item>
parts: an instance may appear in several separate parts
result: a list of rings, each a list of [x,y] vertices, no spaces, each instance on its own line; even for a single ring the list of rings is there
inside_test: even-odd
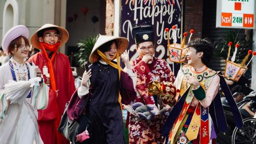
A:
[[[168,42],[167,47],[169,50],[170,61],[175,63],[183,63],[185,61],[185,55],[188,52],[187,45],[185,45],[185,40],[187,38],[188,33],[187,32],[183,33],[182,42],[181,44],[179,44],[177,43],[176,26],[172,26],[171,30],[172,30],[172,39],[173,39],[172,44],[170,44],[169,29],[168,28],[165,29],[165,31],[167,32],[167,42]],[[194,30],[190,30],[189,41],[193,33],[194,33]]]

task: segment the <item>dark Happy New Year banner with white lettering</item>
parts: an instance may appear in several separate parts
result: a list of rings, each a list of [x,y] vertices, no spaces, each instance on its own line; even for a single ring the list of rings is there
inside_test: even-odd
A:
[[[122,0],[121,3],[121,37],[129,39],[130,59],[138,57],[135,42],[132,38],[132,26],[134,23],[142,25],[147,22],[154,28],[154,41],[156,46],[155,56],[169,61],[167,50],[167,33],[169,28],[170,43],[173,42],[171,27],[176,25],[177,43],[180,43],[181,31],[181,7],[182,0]]]

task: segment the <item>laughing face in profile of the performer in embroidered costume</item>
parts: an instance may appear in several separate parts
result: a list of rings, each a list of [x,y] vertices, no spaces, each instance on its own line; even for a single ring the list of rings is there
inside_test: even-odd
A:
[[[194,47],[188,47],[189,51],[186,54],[188,59],[188,64],[191,66],[196,66],[198,63],[202,63],[203,52],[196,52]]]

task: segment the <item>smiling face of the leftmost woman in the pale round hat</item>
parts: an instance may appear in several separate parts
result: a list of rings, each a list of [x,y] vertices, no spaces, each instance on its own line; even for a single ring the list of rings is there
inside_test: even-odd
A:
[[[14,45],[14,49],[11,50],[11,53],[16,59],[24,59],[28,56],[29,45],[26,45],[25,40],[21,38],[20,46],[17,44]]]

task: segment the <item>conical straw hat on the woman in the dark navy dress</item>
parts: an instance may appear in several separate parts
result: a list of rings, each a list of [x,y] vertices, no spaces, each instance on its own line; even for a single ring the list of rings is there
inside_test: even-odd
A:
[[[109,41],[112,41],[112,40],[116,40],[117,41],[117,51],[119,54],[122,54],[126,49],[127,49],[127,46],[129,44],[129,41],[124,38],[124,37],[115,37],[115,36],[108,36],[108,35],[99,35],[99,38],[97,39],[95,45],[94,45],[94,48],[92,49],[91,51],[91,54],[89,56],[89,62],[92,64],[92,63],[95,63],[97,60],[98,60],[98,53],[97,53],[97,49],[103,45],[104,43],[107,43]]]

